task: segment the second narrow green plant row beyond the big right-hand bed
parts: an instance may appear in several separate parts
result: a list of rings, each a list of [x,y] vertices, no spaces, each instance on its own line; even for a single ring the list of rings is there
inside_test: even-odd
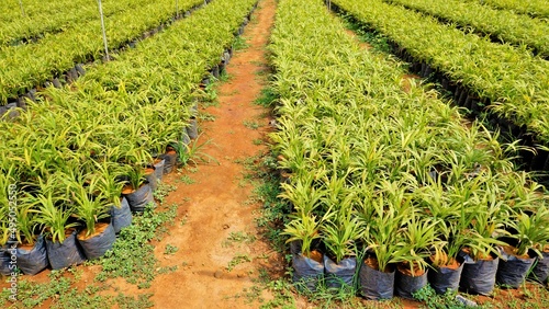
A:
[[[459,0],[388,0],[393,4],[432,14],[462,27],[488,34],[503,43],[527,45],[541,57],[549,56],[549,24],[511,11]]]

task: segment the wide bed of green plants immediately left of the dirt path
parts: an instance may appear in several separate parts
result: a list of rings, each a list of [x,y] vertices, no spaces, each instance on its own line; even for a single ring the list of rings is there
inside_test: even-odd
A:
[[[27,248],[43,242],[53,268],[78,263],[70,259],[77,254],[54,250],[76,237],[80,243],[101,239],[125,201],[134,211],[154,202],[155,176],[189,160],[200,83],[208,69],[228,60],[225,50],[254,2],[213,1],[115,60],[90,66],[77,82],[44,89],[18,117],[3,117],[2,259],[9,256],[4,244],[15,239],[20,265]],[[121,220],[127,224],[125,216]],[[10,218],[18,222],[13,236]]]

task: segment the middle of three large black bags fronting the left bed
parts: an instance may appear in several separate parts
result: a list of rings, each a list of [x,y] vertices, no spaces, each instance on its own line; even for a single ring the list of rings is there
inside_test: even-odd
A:
[[[76,233],[76,230],[72,231],[63,243],[46,239],[47,259],[52,268],[65,268],[86,261],[86,255],[78,244]]]

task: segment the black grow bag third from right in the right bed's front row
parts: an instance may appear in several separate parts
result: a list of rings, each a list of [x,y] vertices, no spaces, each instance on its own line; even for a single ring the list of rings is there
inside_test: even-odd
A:
[[[498,263],[500,258],[474,261],[466,255],[459,286],[468,293],[490,295],[494,290]]]

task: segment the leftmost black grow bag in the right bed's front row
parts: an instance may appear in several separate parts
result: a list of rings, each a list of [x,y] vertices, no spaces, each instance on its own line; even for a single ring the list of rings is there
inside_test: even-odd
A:
[[[292,254],[293,283],[301,290],[316,290],[318,279],[324,274],[323,263],[303,256],[301,253]]]

